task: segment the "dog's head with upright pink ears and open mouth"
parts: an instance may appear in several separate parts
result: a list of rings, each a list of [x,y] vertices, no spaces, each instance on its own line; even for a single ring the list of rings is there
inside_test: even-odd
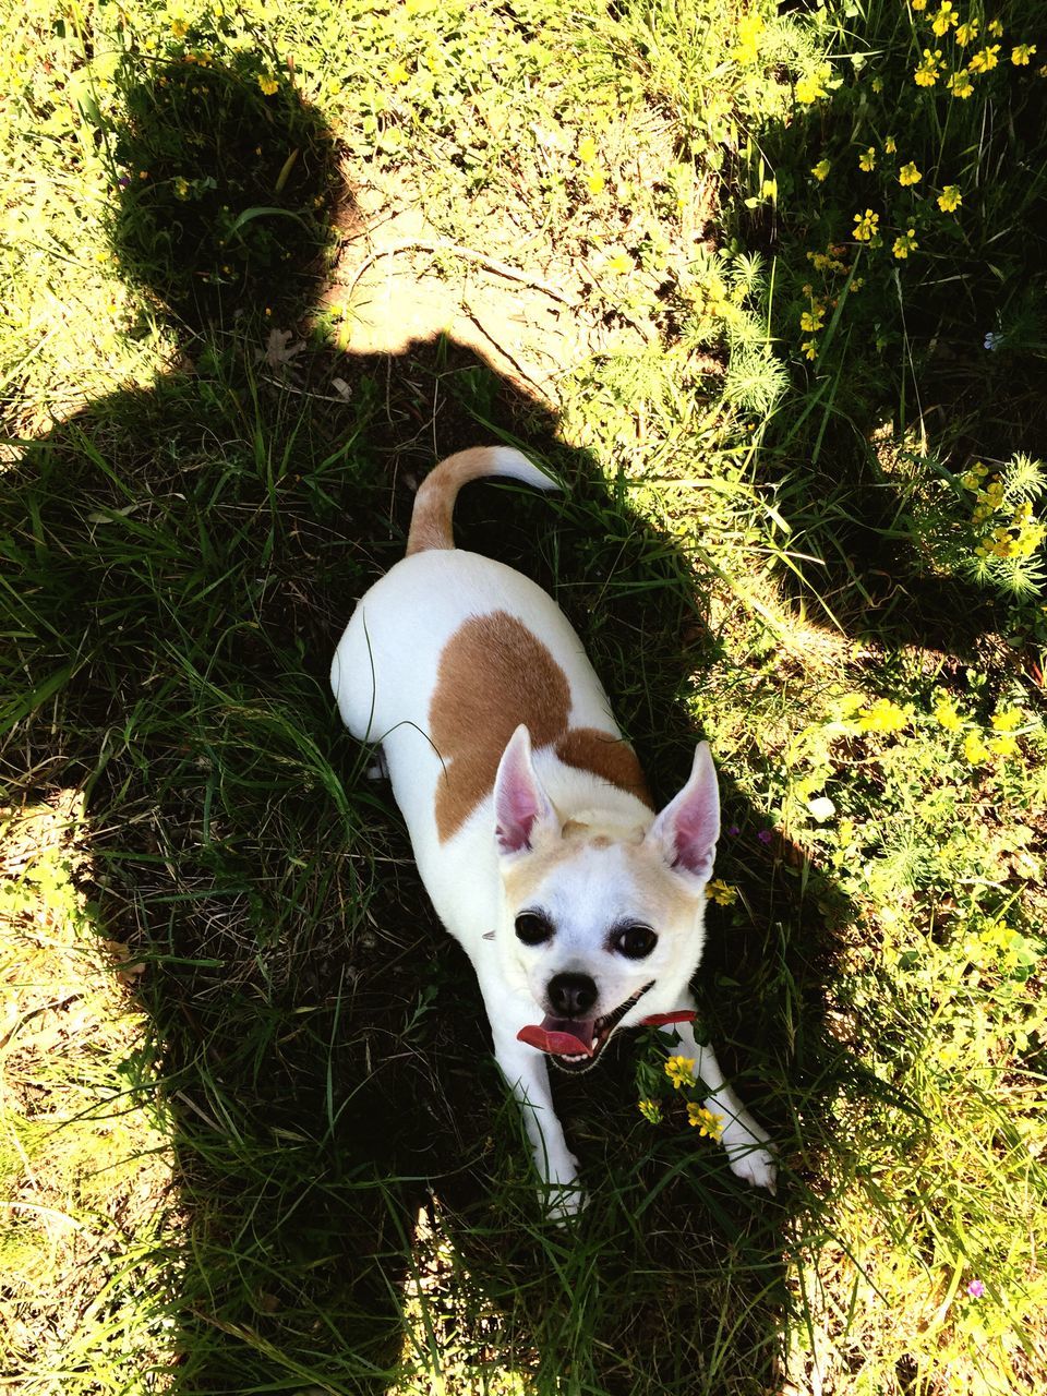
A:
[[[510,984],[542,1015],[519,1036],[564,1069],[586,1071],[617,1027],[678,1007],[701,959],[719,836],[709,748],[698,745],[687,785],[649,826],[609,828],[561,819],[518,727],[494,811],[500,953]]]

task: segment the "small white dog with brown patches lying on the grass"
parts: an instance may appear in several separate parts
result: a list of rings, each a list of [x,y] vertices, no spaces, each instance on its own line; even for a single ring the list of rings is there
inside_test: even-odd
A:
[[[406,556],[362,597],[338,644],[342,720],[381,744],[422,881],[476,970],[551,1213],[570,1216],[584,1194],[547,1062],[588,1071],[616,1032],[639,1025],[676,1034],[723,1121],[732,1170],[773,1191],[768,1135],[691,1026],[719,836],[708,744],[656,812],[556,602],[505,564],[455,549],[458,491],[484,476],[558,489],[510,447],[461,451],[430,472]]]

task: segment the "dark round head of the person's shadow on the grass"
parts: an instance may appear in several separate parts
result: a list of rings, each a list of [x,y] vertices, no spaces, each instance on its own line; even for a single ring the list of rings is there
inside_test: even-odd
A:
[[[204,38],[123,60],[110,144],[120,272],[195,329],[313,302],[355,211],[338,142],[286,67]]]

